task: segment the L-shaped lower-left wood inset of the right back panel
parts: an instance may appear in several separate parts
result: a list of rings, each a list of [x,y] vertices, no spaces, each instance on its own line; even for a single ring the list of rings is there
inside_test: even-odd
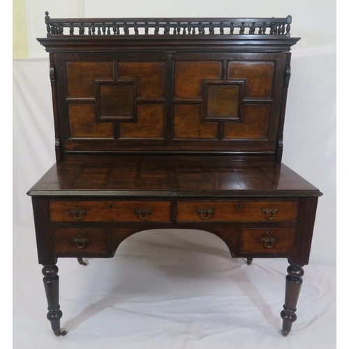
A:
[[[217,138],[217,123],[201,121],[201,105],[174,104],[174,139]]]

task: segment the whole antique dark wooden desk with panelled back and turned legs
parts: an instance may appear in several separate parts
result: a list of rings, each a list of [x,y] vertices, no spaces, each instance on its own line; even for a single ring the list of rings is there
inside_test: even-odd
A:
[[[54,334],[57,258],[185,228],[248,264],[288,258],[287,335],[322,195],[281,163],[291,17],[45,22],[57,163],[29,195]]]

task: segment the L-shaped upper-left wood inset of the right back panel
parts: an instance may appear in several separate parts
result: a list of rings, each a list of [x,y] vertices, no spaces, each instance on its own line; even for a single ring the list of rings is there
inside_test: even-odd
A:
[[[203,80],[221,79],[220,61],[177,61],[174,65],[175,98],[202,98]]]

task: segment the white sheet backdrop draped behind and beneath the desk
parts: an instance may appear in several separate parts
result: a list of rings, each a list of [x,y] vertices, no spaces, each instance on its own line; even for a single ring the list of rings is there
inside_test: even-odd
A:
[[[131,5],[119,8],[118,3],[103,0],[97,7],[85,1],[85,15],[271,15],[267,6],[259,12],[251,6],[257,1],[250,1],[239,13],[217,10],[218,3],[228,1],[214,1],[215,6],[200,1],[207,6],[197,12],[191,3],[182,8],[168,1],[161,8],[148,3],[148,9],[144,3],[144,11],[135,6],[137,1],[134,11]],[[317,6],[321,18],[323,3]],[[300,12],[297,6],[282,13],[276,6],[272,15],[291,14],[296,23],[295,12]],[[13,348],[334,348],[336,54],[327,34],[313,35],[312,40],[309,32],[304,39],[308,47],[295,50],[292,58],[283,162],[324,196],[319,199],[310,265],[304,267],[299,319],[288,338],[277,332],[287,262],[254,260],[247,267],[243,260],[232,260],[228,248],[214,235],[180,230],[133,235],[121,244],[114,259],[90,260],[88,267],[73,259],[59,260],[62,325],[70,333],[53,336],[45,318],[31,200],[25,195],[55,161],[49,64],[47,58],[13,61]],[[314,47],[314,42],[321,41],[319,36],[325,45]]]

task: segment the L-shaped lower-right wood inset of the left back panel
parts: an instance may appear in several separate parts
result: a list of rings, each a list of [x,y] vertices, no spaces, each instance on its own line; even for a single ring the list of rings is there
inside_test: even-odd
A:
[[[163,138],[165,125],[164,103],[138,103],[137,120],[120,122],[120,138]]]

